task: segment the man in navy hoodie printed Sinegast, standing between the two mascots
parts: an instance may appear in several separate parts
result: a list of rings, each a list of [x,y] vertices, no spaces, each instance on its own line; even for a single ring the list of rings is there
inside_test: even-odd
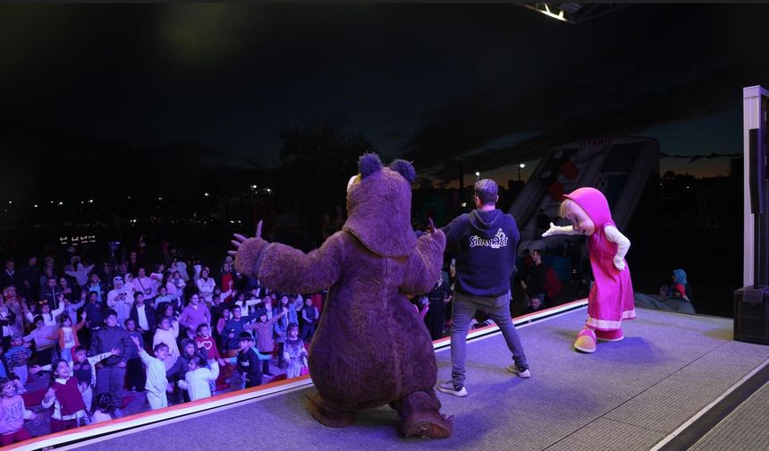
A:
[[[477,310],[489,313],[502,331],[514,361],[508,370],[521,378],[531,376],[510,316],[510,277],[520,235],[515,219],[496,208],[497,191],[494,180],[477,181],[476,209],[442,229],[446,244],[457,244],[457,283],[452,306],[452,379],[438,385],[438,390],[453,396],[468,394],[465,347],[470,320]]]

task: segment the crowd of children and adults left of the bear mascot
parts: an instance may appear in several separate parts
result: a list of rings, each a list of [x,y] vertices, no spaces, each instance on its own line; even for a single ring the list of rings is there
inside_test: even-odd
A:
[[[30,438],[24,421],[39,415],[42,433],[69,430],[121,416],[130,395],[155,410],[308,373],[324,293],[271,292],[230,257],[143,250],[4,261],[0,445]]]

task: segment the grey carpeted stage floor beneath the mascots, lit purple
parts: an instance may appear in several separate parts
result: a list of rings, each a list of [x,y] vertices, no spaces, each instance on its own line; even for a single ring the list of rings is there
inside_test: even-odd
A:
[[[502,336],[469,344],[469,396],[439,394],[456,418],[446,440],[401,438],[389,408],[362,414],[351,428],[325,428],[304,408],[308,388],[80,449],[645,450],[769,358],[769,346],[732,340],[731,319],[647,310],[625,323],[624,341],[577,353],[571,344],[585,315],[581,308],[519,329],[531,379],[505,369]],[[436,355],[439,379],[447,379],[451,355]]]

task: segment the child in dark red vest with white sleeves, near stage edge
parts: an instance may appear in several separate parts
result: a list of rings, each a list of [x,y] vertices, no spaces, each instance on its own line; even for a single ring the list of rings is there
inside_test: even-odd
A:
[[[70,377],[70,363],[59,359],[52,365],[54,381],[43,396],[43,407],[54,406],[51,414],[51,432],[71,430],[79,426],[85,416],[86,404],[78,388],[78,379]]]

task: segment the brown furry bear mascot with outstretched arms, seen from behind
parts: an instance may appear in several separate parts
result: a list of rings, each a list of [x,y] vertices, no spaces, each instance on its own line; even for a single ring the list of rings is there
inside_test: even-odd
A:
[[[427,328],[407,294],[424,294],[440,274],[445,235],[411,228],[414,168],[376,154],[359,159],[347,189],[348,219],[320,248],[305,254],[257,237],[232,243],[235,268],[275,291],[328,288],[309,347],[317,395],[312,415],[331,427],[351,425],[363,409],[389,404],[405,436],[445,438],[452,417],[440,413],[437,367]],[[258,227],[260,228],[260,227]]]

